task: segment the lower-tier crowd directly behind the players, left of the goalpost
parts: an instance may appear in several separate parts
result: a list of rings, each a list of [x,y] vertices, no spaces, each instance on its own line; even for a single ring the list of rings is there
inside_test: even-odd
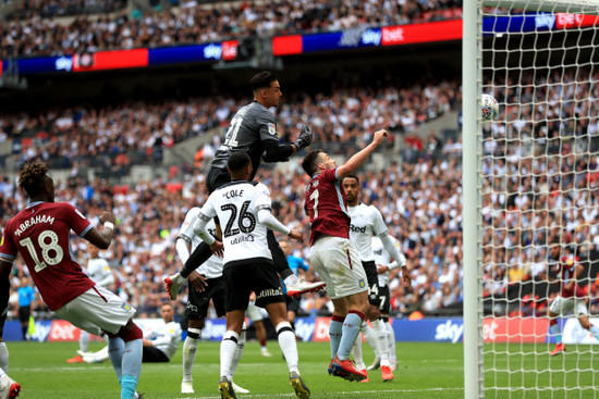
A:
[[[271,188],[274,212],[281,221],[307,232],[308,221],[303,211],[307,177],[297,165],[298,159],[291,162],[292,173],[265,167],[260,180]],[[433,189],[440,176],[447,184],[444,190]],[[405,291],[399,278],[392,278],[394,312],[411,312],[420,307],[432,310],[432,302],[425,301],[430,291],[435,298],[441,298],[437,308],[461,301],[460,179],[456,157],[421,157],[416,164],[393,164],[363,176],[365,201],[381,210],[391,234],[414,260],[413,290]],[[140,315],[155,315],[160,302],[168,298],[162,278],[181,267],[174,250],[180,224],[190,207],[206,199],[201,171],[188,175],[181,189],[167,187],[164,180],[157,179],[139,182],[126,192],[114,194],[113,187],[97,179],[89,186],[62,182],[57,188],[57,198],[72,202],[96,222],[102,210],[114,210],[119,217],[115,242],[100,255],[113,267],[119,295],[137,307]],[[24,199],[9,179],[0,184],[0,192],[5,223]],[[307,244],[292,244],[292,249],[296,255],[307,258]],[[86,244],[80,240],[73,251],[85,264]],[[14,289],[24,273],[21,262],[15,264]],[[315,278],[313,274],[308,277]],[[179,311],[183,309],[184,296],[182,301]],[[302,313],[330,314],[330,306],[323,294],[306,295]]]

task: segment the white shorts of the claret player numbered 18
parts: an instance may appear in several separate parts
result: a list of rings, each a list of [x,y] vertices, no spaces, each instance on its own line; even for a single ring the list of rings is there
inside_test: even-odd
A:
[[[117,334],[135,315],[135,308],[96,285],[56,311],[57,315],[89,334]]]

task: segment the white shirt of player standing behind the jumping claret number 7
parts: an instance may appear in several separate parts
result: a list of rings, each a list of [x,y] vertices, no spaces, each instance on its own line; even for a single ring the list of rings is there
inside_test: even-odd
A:
[[[375,207],[362,202],[355,207],[347,207],[347,212],[352,217],[350,241],[356,248],[363,262],[374,261],[372,236],[383,237],[389,234],[382,215]]]

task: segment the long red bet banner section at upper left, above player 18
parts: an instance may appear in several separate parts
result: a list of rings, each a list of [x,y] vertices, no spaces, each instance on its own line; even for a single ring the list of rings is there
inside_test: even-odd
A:
[[[73,55],[73,72],[148,66],[148,49],[99,51]]]

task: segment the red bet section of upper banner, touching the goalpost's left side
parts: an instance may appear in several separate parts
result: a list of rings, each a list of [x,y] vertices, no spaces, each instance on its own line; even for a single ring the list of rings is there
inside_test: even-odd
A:
[[[381,28],[381,34],[382,46],[459,40],[462,39],[462,20],[384,26]]]

